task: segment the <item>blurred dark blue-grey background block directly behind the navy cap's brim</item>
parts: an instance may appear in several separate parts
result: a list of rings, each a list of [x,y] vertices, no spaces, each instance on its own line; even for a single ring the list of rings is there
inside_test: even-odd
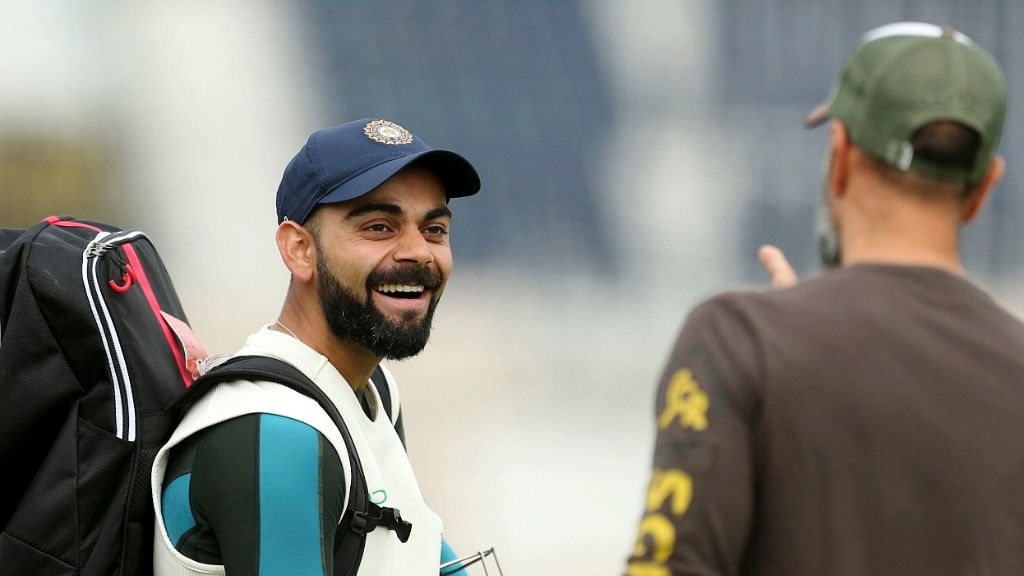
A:
[[[479,170],[484,194],[456,214],[460,259],[613,263],[590,181],[613,111],[574,2],[308,6],[329,113],[407,123]]]

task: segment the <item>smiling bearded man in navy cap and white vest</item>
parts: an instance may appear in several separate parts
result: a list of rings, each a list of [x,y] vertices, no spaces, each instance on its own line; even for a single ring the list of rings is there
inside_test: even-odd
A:
[[[397,388],[379,365],[426,345],[452,273],[447,202],[479,187],[464,158],[393,122],[313,133],[278,191],[276,242],[291,273],[284,306],[239,353],[283,360],[327,394],[370,501],[400,509],[397,523],[412,531],[382,525],[361,553],[342,553],[351,466],[338,428],[299,393],[229,382],[189,410],[157,457],[156,574],[427,575],[455,558],[420,493]]]

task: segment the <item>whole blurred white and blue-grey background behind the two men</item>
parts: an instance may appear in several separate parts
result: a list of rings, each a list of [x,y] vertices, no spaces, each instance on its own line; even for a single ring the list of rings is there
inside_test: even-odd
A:
[[[687,311],[817,272],[824,99],[869,28],[949,25],[1004,65],[1007,179],[969,271],[1024,310],[1024,3],[910,0],[0,1],[0,225],[145,230],[211,353],[276,317],[281,173],[383,117],[467,156],[456,275],[392,365],[427,499],[506,574],[620,574],[653,392]],[[851,295],[855,297],[855,295]]]

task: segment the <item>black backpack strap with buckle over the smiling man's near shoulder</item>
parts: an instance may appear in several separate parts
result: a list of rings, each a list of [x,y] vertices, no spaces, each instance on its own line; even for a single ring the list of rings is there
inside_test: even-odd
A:
[[[367,534],[378,526],[393,530],[402,542],[409,540],[413,525],[402,520],[397,509],[381,507],[370,501],[367,478],[355,452],[355,443],[352,441],[352,436],[348,431],[348,426],[341,417],[338,407],[319,386],[291,364],[265,356],[234,357],[214,367],[196,380],[179,403],[180,411],[178,413],[183,415],[189,407],[217,384],[233,380],[274,382],[311,398],[327,412],[341,433],[348,452],[352,479],[349,483],[348,506],[341,520],[343,529],[339,530],[335,537],[335,574],[355,574],[359,561],[362,559]],[[345,537],[349,532],[355,533],[357,537]],[[339,571],[339,567],[345,568]]]

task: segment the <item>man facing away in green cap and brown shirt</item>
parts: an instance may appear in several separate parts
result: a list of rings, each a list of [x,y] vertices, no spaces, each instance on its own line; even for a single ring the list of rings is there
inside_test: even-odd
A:
[[[1024,325],[958,256],[1006,106],[959,33],[865,36],[808,117],[830,121],[830,270],[690,314],[628,575],[1020,572]]]

